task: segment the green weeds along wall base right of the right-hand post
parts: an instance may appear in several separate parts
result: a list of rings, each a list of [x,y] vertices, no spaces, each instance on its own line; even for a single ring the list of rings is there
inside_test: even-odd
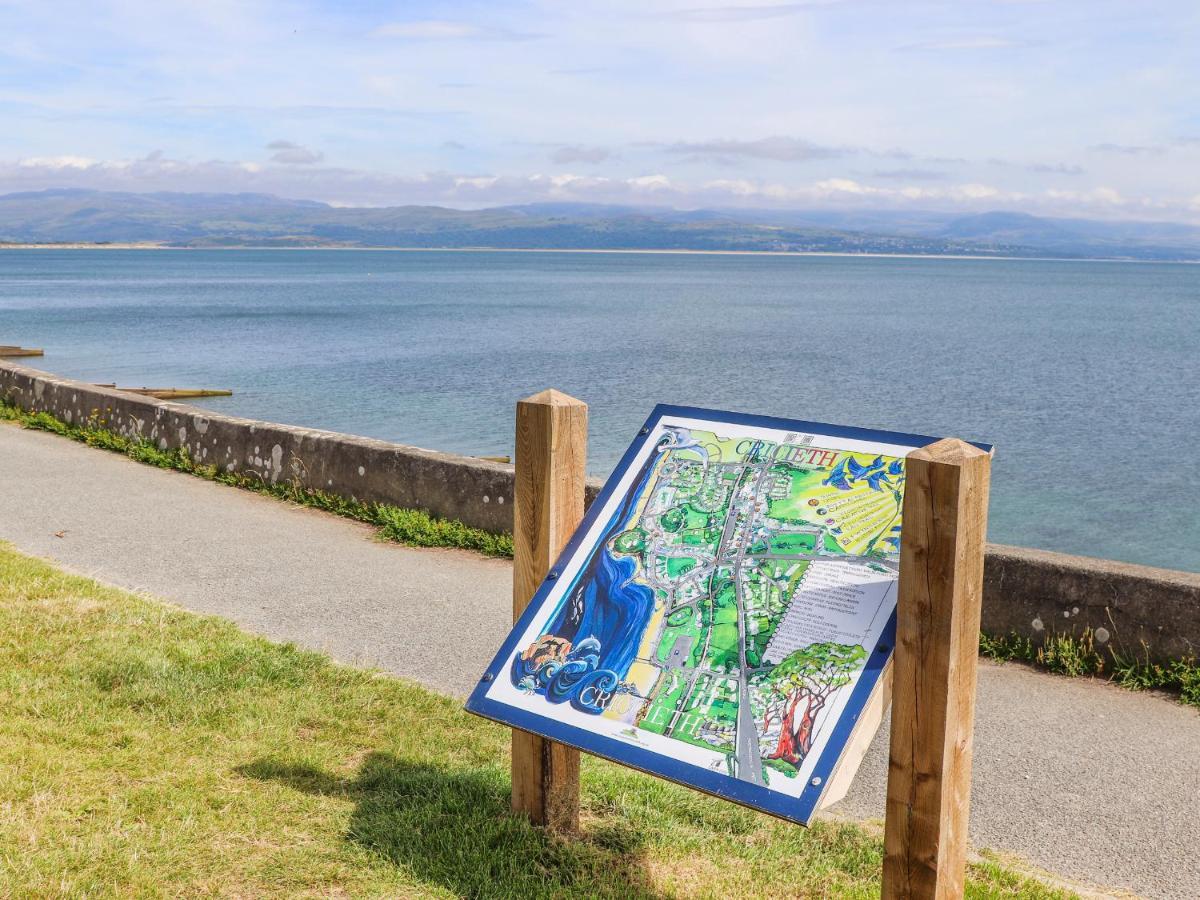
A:
[[[1147,655],[1126,655],[1111,647],[1097,647],[1091,631],[1080,636],[1050,635],[1042,644],[1016,634],[980,635],[979,653],[998,662],[1027,662],[1072,678],[1105,678],[1130,690],[1169,691],[1183,703],[1200,707],[1200,662],[1195,659],[1160,664]]]

